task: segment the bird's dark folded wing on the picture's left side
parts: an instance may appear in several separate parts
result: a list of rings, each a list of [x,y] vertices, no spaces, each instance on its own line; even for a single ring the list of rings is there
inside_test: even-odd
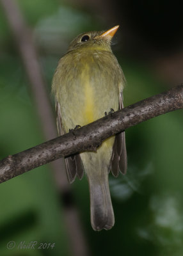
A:
[[[56,102],[56,124],[58,129],[58,135],[65,134],[63,126],[61,124],[61,108],[59,102]],[[76,176],[81,180],[84,175],[84,167],[79,154],[65,157],[65,166],[67,170],[67,177],[70,183],[74,182]]]

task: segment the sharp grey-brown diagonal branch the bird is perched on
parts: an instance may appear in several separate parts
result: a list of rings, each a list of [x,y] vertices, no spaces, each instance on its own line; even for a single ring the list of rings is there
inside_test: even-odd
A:
[[[183,108],[183,84],[168,92],[160,93],[128,106],[112,115],[80,129],[46,141],[0,161],[0,182],[12,179],[24,172],[60,157],[82,151],[95,151],[97,147],[114,134],[141,122]]]

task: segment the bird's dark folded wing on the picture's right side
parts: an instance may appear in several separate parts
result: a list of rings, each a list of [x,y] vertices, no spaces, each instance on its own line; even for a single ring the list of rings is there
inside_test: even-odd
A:
[[[123,108],[123,95],[120,92],[120,109]],[[111,172],[118,177],[119,172],[125,174],[127,172],[127,150],[125,143],[125,132],[120,132],[115,136],[113,145],[113,153],[111,156]]]

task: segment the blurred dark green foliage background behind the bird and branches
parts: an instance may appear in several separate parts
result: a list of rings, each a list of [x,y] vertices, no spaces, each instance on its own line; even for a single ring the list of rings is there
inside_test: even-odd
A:
[[[171,1],[17,1],[38,49],[47,91],[77,34],[120,24],[115,53],[127,79],[125,106],[183,82],[182,4]],[[24,65],[0,1],[0,157],[45,141]],[[41,100],[41,99],[40,99]],[[54,109],[54,102],[52,102]],[[94,232],[86,177],[72,184],[90,255],[183,255],[183,112],[126,131],[128,171],[109,175],[115,226]],[[61,172],[61,170],[60,170]],[[50,166],[0,185],[0,255],[76,255]],[[76,232],[76,230],[74,230]],[[7,249],[38,241],[54,247]]]

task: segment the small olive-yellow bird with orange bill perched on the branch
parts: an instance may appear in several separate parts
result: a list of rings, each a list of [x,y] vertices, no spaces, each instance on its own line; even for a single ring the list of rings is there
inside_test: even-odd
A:
[[[58,62],[52,79],[59,136],[70,129],[102,118],[104,113],[123,108],[126,80],[111,50],[119,26],[106,31],[78,35]],[[72,130],[73,131],[73,130]],[[93,230],[109,230],[115,216],[109,191],[109,172],[118,177],[127,172],[125,131],[107,138],[95,152],[65,157],[70,183],[84,173],[90,190],[90,219]]]

